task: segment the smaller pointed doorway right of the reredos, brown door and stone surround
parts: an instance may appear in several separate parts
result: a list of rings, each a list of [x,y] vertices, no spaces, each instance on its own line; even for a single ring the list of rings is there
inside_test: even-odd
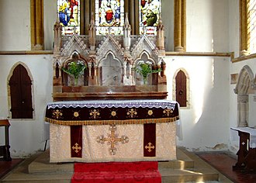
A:
[[[190,79],[185,68],[175,71],[172,79],[172,99],[182,108],[190,107]]]

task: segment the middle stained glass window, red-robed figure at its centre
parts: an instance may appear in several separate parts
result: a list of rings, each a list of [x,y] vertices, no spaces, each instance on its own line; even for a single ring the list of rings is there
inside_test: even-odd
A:
[[[124,1],[123,0],[96,0],[95,24],[96,34],[123,35]]]

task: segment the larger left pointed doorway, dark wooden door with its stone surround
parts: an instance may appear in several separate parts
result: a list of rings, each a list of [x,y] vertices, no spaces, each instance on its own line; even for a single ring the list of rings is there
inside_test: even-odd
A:
[[[33,77],[26,64],[13,65],[8,77],[9,116],[12,119],[33,119]]]

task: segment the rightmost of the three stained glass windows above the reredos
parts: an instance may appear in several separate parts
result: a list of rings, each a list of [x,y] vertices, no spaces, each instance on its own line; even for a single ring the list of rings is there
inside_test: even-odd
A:
[[[161,0],[139,0],[140,34],[157,35],[157,25],[161,13]]]

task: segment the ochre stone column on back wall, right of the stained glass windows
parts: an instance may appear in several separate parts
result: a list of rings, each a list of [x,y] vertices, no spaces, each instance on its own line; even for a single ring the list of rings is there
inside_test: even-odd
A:
[[[175,51],[185,51],[185,0],[175,0]]]

